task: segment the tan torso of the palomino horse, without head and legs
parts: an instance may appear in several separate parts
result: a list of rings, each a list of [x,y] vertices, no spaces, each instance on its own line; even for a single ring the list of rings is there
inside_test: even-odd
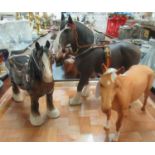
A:
[[[116,85],[118,85],[117,93],[120,100],[124,98],[126,102],[130,103],[137,100],[151,88],[153,79],[154,73],[149,67],[144,65],[132,66],[116,79]]]

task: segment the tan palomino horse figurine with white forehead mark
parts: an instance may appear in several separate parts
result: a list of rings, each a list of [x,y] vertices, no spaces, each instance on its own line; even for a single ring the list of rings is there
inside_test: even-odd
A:
[[[101,95],[101,108],[107,116],[105,130],[109,136],[109,121],[111,110],[118,113],[116,122],[116,135],[113,141],[119,138],[120,128],[125,111],[131,103],[137,100],[144,93],[144,103],[141,108],[145,111],[149,91],[152,87],[155,74],[152,69],[145,65],[134,65],[124,74],[119,74],[114,68],[109,68],[99,79]]]

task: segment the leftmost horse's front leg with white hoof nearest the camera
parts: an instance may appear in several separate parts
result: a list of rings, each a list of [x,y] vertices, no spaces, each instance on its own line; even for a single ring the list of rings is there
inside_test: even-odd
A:
[[[30,122],[34,126],[40,126],[46,120],[46,115],[40,115],[38,99],[38,97],[31,96]]]

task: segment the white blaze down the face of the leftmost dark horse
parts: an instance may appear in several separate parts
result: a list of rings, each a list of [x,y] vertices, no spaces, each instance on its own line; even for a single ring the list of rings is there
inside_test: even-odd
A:
[[[43,53],[42,62],[44,64],[43,81],[46,83],[50,83],[53,80],[52,69],[51,69],[50,61],[45,53]]]

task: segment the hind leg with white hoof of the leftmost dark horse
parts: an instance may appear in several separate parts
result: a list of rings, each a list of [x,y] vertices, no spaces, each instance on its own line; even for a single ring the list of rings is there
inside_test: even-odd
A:
[[[20,92],[18,86],[16,83],[11,79],[11,85],[12,85],[12,97],[16,102],[22,102],[23,101],[23,94]]]

